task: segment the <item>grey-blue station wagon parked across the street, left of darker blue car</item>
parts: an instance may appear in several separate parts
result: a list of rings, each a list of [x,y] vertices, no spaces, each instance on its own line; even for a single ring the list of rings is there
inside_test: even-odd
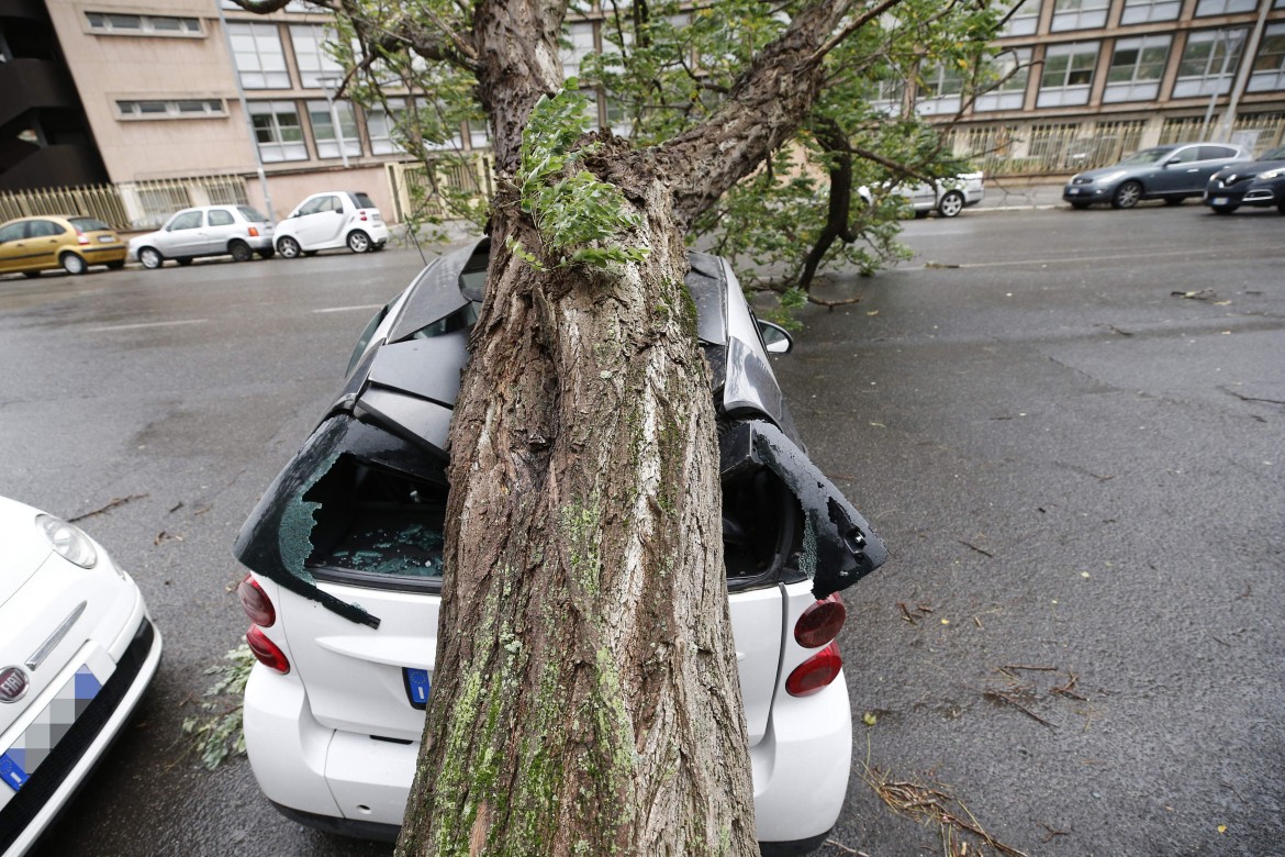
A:
[[[1249,161],[1249,150],[1227,143],[1183,143],[1135,152],[1119,163],[1072,176],[1061,198],[1072,208],[1110,203],[1132,208],[1142,199],[1163,199],[1171,206],[1204,194],[1213,173]]]

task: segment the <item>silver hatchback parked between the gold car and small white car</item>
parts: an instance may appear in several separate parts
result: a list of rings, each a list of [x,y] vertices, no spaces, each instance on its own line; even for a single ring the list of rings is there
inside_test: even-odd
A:
[[[130,258],[157,269],[166,260],[191,265],[202,256],[231,256],[248,262],[253,254],[272,258],[272,224],[249,206],[184,208],[154,233],[130,239]]]

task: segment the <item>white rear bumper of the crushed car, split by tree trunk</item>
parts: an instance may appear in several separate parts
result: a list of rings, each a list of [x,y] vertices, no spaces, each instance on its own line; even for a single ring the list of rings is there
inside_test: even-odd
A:
[[[256,666],[245,689],[245,749],[263,794],[287,817],[361,839],[394,838],[419,743],[332,730],[299,681]],[[781,696],[750,748],[758,838],[772,853],[806,849],[839,817],[852,761],[843,675],[821,693]]]

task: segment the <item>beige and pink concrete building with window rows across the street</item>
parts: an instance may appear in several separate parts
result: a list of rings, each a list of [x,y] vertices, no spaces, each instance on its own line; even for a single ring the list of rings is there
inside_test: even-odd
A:
[[[1285,0],[1010,8],[996,90],[971,98],[941,68],[884,94],[889,109],[957,118],[955,149],[991,175],[1065,173],[1162,141],[1281,141]],[[569,73],[603,49],[599,18],[568,24]],[[263,17],[230,0],[0,0],[0,190],[105,180],[144,226],[234,199],[280,217],[339,188],[398,220],[409,158],[388,116],[332,100],[328,21],[306,3]],[[461,123],[450,145],[484,152],[486,128]]]

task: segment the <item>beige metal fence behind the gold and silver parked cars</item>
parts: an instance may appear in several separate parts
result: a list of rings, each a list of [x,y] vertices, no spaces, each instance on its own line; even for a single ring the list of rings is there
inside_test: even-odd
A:
[[[155,229],[173,212],[190,206],[244,206],[240,176],[195,176],[131,181],[118,185],[48,188],[0,193],[0,220],[36,215],[96,217],[113,229]]]

